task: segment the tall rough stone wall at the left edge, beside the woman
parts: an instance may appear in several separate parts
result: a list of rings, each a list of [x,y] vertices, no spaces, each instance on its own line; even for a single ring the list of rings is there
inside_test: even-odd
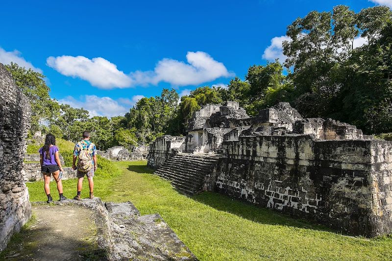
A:
[[[23,178],[29,101],[0,64],[0,251],[31,216]]]

